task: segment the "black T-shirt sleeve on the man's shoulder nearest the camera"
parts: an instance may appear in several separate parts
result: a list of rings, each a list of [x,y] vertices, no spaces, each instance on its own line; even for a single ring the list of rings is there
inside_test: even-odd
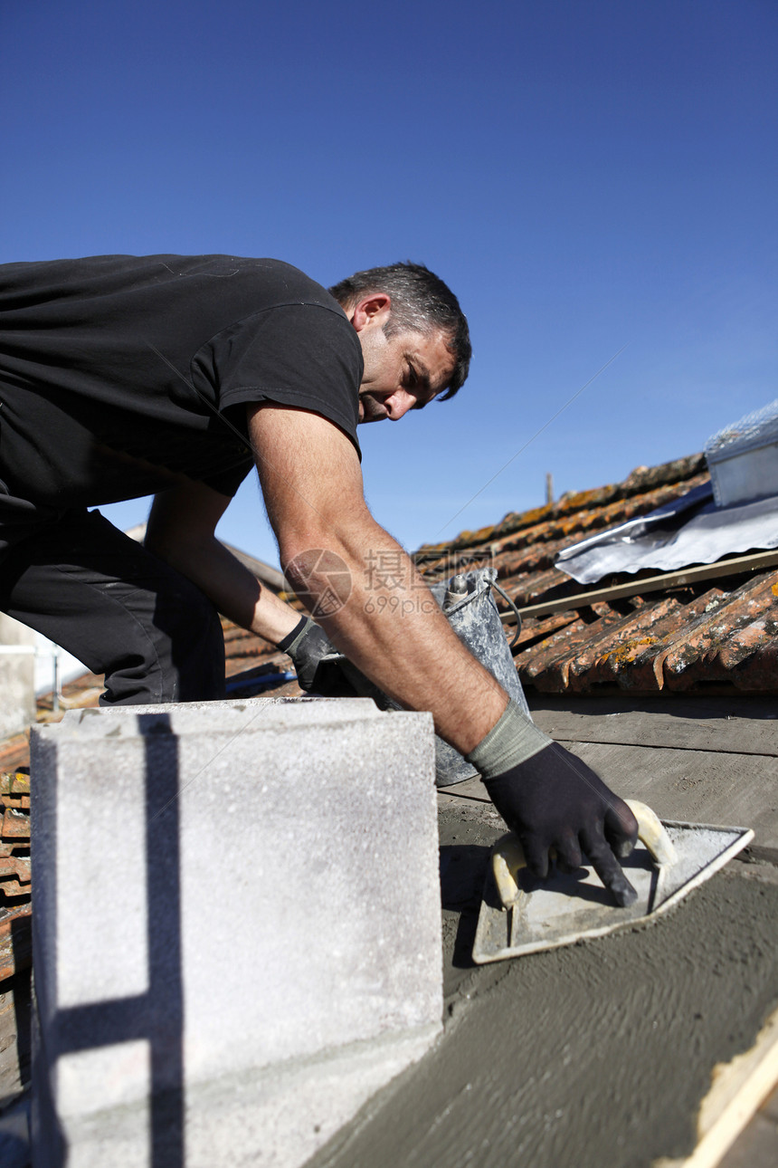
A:
[[[201,349],[192,374],[216,384],[219,410],[261,401],[310,410],[359,454],[362,346],[335,301],[278,305],[230,325]]]

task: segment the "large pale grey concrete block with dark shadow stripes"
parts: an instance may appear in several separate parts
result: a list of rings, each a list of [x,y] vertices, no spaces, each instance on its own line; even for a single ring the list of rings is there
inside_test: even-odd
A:
[[[429,715],[71,711],[33,773],[41,1168],[293,1168],[434,1041]]]

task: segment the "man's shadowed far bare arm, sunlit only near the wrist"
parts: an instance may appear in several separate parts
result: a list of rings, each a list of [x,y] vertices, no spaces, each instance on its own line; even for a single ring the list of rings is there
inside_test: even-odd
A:
[[[276,645],[300,617],[216,538],[229,502],[204,482],[162,492],[152,505],[145,545],[196,584],[225,617]]]

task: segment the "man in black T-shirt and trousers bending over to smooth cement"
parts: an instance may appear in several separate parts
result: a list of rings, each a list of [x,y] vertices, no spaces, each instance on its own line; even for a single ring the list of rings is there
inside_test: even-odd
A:
[[[458,303],[409,264],[330,291],[230,256],[0,269],[0,610],[105,673],[104,704],[220,696],[217,610],[315,666],[317,626],[215,536],[253,463],[281,564],[332,642],[432,711],[533,872],[587,855],[629,903],[626,805],[509,703],[434,603],[394,617],[423,584],[367,510],[356,426],[457,391],[470,359]],[[145,548],[86,510],[150,493]],[[370,580],[386,557],[392,580]]]

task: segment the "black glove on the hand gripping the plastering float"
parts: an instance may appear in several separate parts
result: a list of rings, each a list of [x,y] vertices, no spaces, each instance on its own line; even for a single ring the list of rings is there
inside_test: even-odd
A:
[[[497,811],[519,836],[533,876],[548,875],[552,850],[567,870],[577,868],[586,855],[618,905],[637,898],[617,860],[635,847],[637,820],[580,758],[551,743],[484,783]]]

